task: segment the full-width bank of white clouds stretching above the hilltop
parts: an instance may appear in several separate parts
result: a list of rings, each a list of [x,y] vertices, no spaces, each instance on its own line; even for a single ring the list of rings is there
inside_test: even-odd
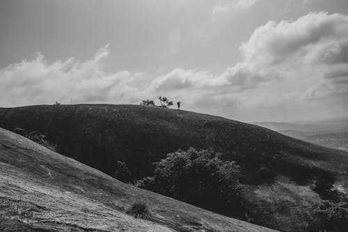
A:
[[[143,72],[104,70],[109,45],[86,61],[71,57],[48,63],[36,54],[0,70],[0,105],[69,103],[70,98],[74,103],[137,104],[166,95],[183,101],[184,108],[232,117],[242,111],[255,116],[261,109],[312,110],[316,104],[324,111],[347,104],[347,15],[319,12],[267,22],[242,43],[240,52],[242,61],[220,74],[176,68],[141,88],[134,82],[145,77]]]

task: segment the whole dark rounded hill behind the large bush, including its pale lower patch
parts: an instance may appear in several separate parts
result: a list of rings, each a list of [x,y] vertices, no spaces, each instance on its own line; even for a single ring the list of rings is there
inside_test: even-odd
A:
[[[348,153],[217,116],[136,105],[42,105],[0,109],[0,127],[38,130],[58,153],[110,175],[123,161],[132,180],[179,148],[211,148],[242,168],[245,218],[280,231],[319,226],[311,208],[323,197],[315,191],[319,180],[348,192]],[[263,180],[262,169],[274,173],[274,183]]]

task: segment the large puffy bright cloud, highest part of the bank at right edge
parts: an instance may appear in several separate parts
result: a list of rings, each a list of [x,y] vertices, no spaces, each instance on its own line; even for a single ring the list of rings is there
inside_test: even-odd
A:
[[[310,57],[313,51],[326,52],[327,46],[338,46],[339,43],[347,42],[347,36],[347,15],[315,12],[299,17],[294,22],[270,21],[260,26],[243,43],[241,51],[246,62],[271,65],[302,54]],[[338,51],[331,54],[338,54]],[[315,58],[317,56],[320,54],[315,54]]]

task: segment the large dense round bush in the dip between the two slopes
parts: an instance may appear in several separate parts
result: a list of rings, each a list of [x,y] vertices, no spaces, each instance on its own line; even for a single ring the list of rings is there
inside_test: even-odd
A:
[[[174,197],[180,201],[221,212],[239,215],[240,187],[235,162],[222,161],[211,150],[177,150],[156,163],[154,176],[136,186]],[[234,208],[235,210],[231,210]]]

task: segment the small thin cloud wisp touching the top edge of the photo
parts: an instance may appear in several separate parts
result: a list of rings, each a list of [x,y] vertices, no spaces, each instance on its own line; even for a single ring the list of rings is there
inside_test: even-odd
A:
[[[260,0],[232,0],[226,4],[214,6],[212,10],[212,20],[216,20],[219,15],[251,8],[251,6],[255,5],[258,1]]]

